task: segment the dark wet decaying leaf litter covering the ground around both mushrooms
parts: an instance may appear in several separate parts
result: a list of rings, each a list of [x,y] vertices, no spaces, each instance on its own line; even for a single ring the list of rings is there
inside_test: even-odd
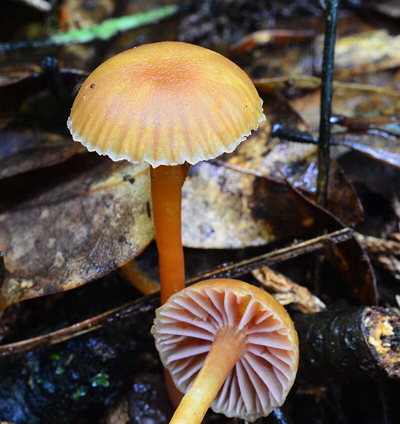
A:
[[[396,62],[398,38],[394,22],[389,22],[384,17],[384,13],[390,15],[390,5],[386,9],[379,6],[380,13],[383,14],[377,21],[368,19],[368,13],[376,11],[373,2],[363,6],[362,13],[358,9],[345,10],[346,4],[341,5],[338,24],[340,49],[335,56],[334,78],[342,83],[363,86],[349,89],[348,86],[339,85],[335,88],[333,113],[349,118],[369,119],[372,123],[373,119],[376,121],[386,116],[390,122],[361,129],[354,128],[351,124],[335,125],[332,128],[332,138],[335,141],[343,144],[344,140],[350,148],[368,156],[362,157],[355,151],[349,153],[342,146],[337,150],[334,147],[332,152],[337,162],[331,161],[327,208],[335,218],[312,203],[317,172],[315,146],[280,140],[270,134],[272,127],[278,124],[291,130],[308,131],[317,135],[315,118],[318,116],[319,93],[314,86],[297,86],[296,76],[320,76],[319,34],[323,32],[323,12],[318,4],[312,3],[304,6],[302,2],[292,2],[284,7],[274,2],[252,3],[251,6],[249,2],[225,1],[194,4],[192,9],[184,10],[180,16],[134,29],[105,43],[76,44],[62,47],[59,51],[53,50],[50,53],[58,56],[61,66],[75,68],[72,71],[62,70],[60,74],[57,74],[56,68],[52,73],[44,66],[45,71],[39,71],[38,65],[47,54],[45,50],[31,52],[31,60],[36,63],[34,66],[18,66],[18,63],[30,60],[26,60],[28,53],[23,58],[15,55],[0,58],[4,67],[8,65],[8,60],[13,63],[11,68],[7,66],[4,77],[1,78],[0,122],[4,125],[2,136],[8,142],[11,137],[27,140],[26,144],[20,141],[20,150],[6,150],[0,159],[1,163],[9,164],[9,173],[2,175],[0,180],[0,219],[1,223],[7,222],[7,225],[1,225],[0,228],[4,239],[0,249],[5,252],[7,268],[1,286],[2,307],[18,300],[58,292],[56,296],[36,297],[5,308],[0,318],[2,344],[61,329],[117,307],[139,295],[128,285],[119,269],[112,271],[109,276],[99,280],[97,278],[132,258],[152,237],[151,224],[148,224],[151,221],[151,207],[148,206],[144,188],[148,184],[147,173],[143,172],[136,178],[136,171],[130,169],[132,165],[115,164],[108,159],[92,157],[78,148],[71,151],[69,149],[74,149],[72,143],[71,146],[65,143],[65,151],[68,152],[65,155],[60,151],[55,154],[56,150],[51,148],[59,146],[68,137],[63,126],[67,117],[65,112],[69,112],[73,86],[82,80],[79,77],[82,74],[81,69],[90,71],[106,57],[143,42],[179,39],[212,47],[230,55],[254,80],[260,81],[257,86],[264,98],[268,115],[265,125],[235,152],[211,163],[199,163],[188,175],[183,186],[182,215],[183,240],[188,246],[188,277],[204,273],[208,268],[220,267],[226,262],[233,262],[234,265],[234,262],[245,258],[287,246],[293,240],[316,236],[315,222],[322,221],[329,231],[342,228],[343,224],[356,224],[360,233],[377,238],[375,245],[384,245],[390,234],[398,232],[399,112],[398,97],[393,95],[399,88],[398,61]],[[151,9],[156,5],[158,4],[146,3],[146,8]],[[61,21],[56,22],[59,22],[61,28],[68,29],[70,22],[76,22],[76,17],[83,15],[76,11],[76,2],[65,1],[63,6],[66,17],[64,15]],[[122,15],[145,11],[134,2],[129,2],[128,5],[124,3],[119,9],[117,6],[116,2],[98,2],[92,12],[86,10],[86,23],[100,22],[115,13]],[[262,13],[259,13],[260,10]],[[363,17],[359,17],[361,15]],[[246,18],[243,19],[242,16]],[[306,17],[301,20],[301,27],[298,19],[295,19],[298,16]],[[375,14],[373,16],[376,17]],[[20,26],[23,27],[23,24]],[[40,26],[36,25],[36,30],[38,27]],[[238,52],[236,48],[235,51],[234,47],[242,37],[251,37],[256,30],[272,28],[273,32],[273,28],[282,27],[289,27],[300,34],[286,34],[287,38],[283,42],[281,37],[273,34],[269,34],[269,39],[261,38],[262,42],[257,42],[255,37],[251,48],[246,48],[244,52]],[[9,37],[9,33],[3,34],[3,39],[6,37]],[[19,37],[26,38],[27,33],[21,30]],[[357,48],[358,43],[376,46],[368,50],[366,60],[365,54],[357,55],[361,51]],[[54,75],[54,72],[60,77],[53,76],[51,79],[50,75]],[[262,90],[262,83],[265,83],[262,80],[277,77],[291,79],[286,78],[288,82],[283,86],[280,82],[276,83],[276,88],[273,88],[273,81],[271,88],[269,80],[268,90]],[[63,80],[66,81],[64,85],[57,85]],[[44,89],[47,91],[43,91]],[[68,95],[60,100],[59,94],[63,90]],[[9,99],[9,107],[2,107],[4,98]],[[51,140],[50,143],[53,144],[46,144],[46,140]],[[46,167],[43,167],[42,161],[43,148],[48,149],[46,152],[50,160],[53,160]],[[27,159],[28,165],[21,166],[20,157]],[[140,201],[136,203],[138,211],[131,214],[128,221],[118,221],[115,210],[120,210],[120,207],[123,208],[122,211],[132,210],[132,205],[126,204],[124,197],[125,193],[132,190],[142,190]],[[119,202],[113,203],[114,200]],[[77,209],[72,207],[65,210],[63,206],[66,202],[76,203]],[[51,228],[42,234],[46,217],[42,216],[41,222],[38,212],[48,207],[53,209],[52,215],[47,216],[47,228]],[[107,208],[108,212],[104,213]],[[121,217],[124,216],[126,215],[121,213]],[[140,241],[126,240],[126,234],[132,234],[131,228],[136,219],[146,220],[145,227],[140,225],[140,229],[146,228],[145,234],[139,235]],[[78,244],[69,241],[74,237],[78,238],[80,232],[76,228],[80,227],[87,228],[87,237],[86,242],[79,244],[77,248]],[[50,232],[55,236],[51,236]],[[50,238],[56,239],[54,243],[59,246],[57,250],[51,251],[51,247],[47,247]],[[370,243],[362,242],[359,237],[358,240],[368,252],[371,251]],[[377,277],[379,305],[398,307],[395,300],[395,295],[398,294],[395,276],[398,276],[398,271],[396,273],[394,265],[389,271],[385,270],[387,261],[395,263],[393,258],[398,257],[398,252],[389,249],[377,257],[371,254],[374,264],[374,273],[371,273],[367,264],[361,265],[365,263],[361,260],[366,257],[365,250],[357,242],[352,242],[347,248],[345,243],[335,245],[333,251],[327,255],[331,257],[333,253],[336,260],[325,260],[322,263],[323,284],[318,296],[328,310],[335,310],[339,306],[348,309],[348,304],[371,305],[374,297],[374,274]],[[10,251],[13,252],[13,262],[10,261]],[[61,254],[56,255],[57,252]],[[105,257],[99,258],[104,252]],[[387,259],[386,265],[382,261],[382,255]],[[153,243],[136,260],[149,276],[156,279]],[[313,260],[307,254],[273,266],[275,271],[280,271],[312,292],[310,273]],[[71,263],[73,266],[68,268]],[[80,265],[76,267],[76,263]],[[73,269],[74,272],[77,270],[78,275],[71,274],[68,269]],[[343,277],[346,274],[347,278]],[[69,280],[65,278],[66,275]],[[256,283],[249,274],[241,278]],[[85,282],[89,283],[60,293],[60,290]],[[144,298],[141,307],[145,305]],[[295,307],[288,307],[295,316]],[[143,419],[147,417],[156,422],[167,422],[170,406],[157,400],[162,393],[160,368],[147,333],[151,312],[148,312],[145,319],[142,316],[138,315],[137,318],[140,324],[136,323],[135,317],[125,318],[63,343],[3,359],[3,364],[0,365],[1,374],[4,373],[7,378],[0,387],[0,405],[12,407],[0,409],[0,417],[15,422],[74,422],[76,416],[81,416],[91,422],[88,417],[95,409],[93,422],[98,422],[100,418],[105,422],[115,422],[115,416],[122,422],[137,422],[134,421],[133,411],[137,411],[137,405],[144,402],[148,405],[149,412]],[[397,334],[395,316],[390,315],[384,319],[392,322],[392,331]],[[144,320],[147,320],[147,326],[142,324]],[[135,334],[129,334],[127,340],[122,339],[122,330],[140,325],[143,326],[137,328]],[[77,329],[75,331],[78,333]],[[323,333],[321,334],[323,337]],[[398,352],[395,338],[393,346]],[[78,355],[77,352],[82,354]],[[132,364],[129,372],[125,372],[123,367],[123,371],[121,370],[120,361],[125,364],[127,360]],[[17,371],[9,372],[10,362]],[[87,372],[82,372],[82,367]],[[334,381],[332,373],[334,374],[328,372],[326,378],[333,378]],[[19,374],[22,377],[17,377]],[[344,422],[352,419],[378,422],[384,416],[384,422],[395,422],[395,408],[398,406],[393,400],[396,393],[398,394],[398,383],[388,381],[385,377],[380,383],[374,380],[359,383],[356,372],[349,372],[348,375],[349,381],[346,384],[319,381],[319,391],[314,389],[313,392],[310,382],[302,378],[301,384],[293,388],[285,405],[272,417],[261,421]],[[121,384],[126,389],[122,389]],[[143,394],[151,390],[156,390],[160,395]],[[352,393],[351,400],[348,393]],[[35,398],[49,405],[46,416],[41,414]],[[107,406],[110,398],[115,399],[111,408]],[[368,407],[365,406],[365,398],[370,404]],[[335,416],[330,412],[332,405],[339,411]],[[295,406],[300,406],[303,412],[293,414]],[[233,422],[232,419],[216,417],[215,414],[209,414],[208,420]]]

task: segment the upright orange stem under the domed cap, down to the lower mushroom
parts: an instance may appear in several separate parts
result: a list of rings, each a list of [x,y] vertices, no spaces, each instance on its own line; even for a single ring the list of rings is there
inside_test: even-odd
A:
[[[185,177],[184,165],[150,167],[162,304],[172,294],[184,288],[180,209]]]

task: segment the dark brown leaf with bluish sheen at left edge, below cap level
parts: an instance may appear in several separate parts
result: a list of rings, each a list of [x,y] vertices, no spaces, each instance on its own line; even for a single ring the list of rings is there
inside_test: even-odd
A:
[[[1,131],[0,178],[60,163],[82,147],[49,132]]]

